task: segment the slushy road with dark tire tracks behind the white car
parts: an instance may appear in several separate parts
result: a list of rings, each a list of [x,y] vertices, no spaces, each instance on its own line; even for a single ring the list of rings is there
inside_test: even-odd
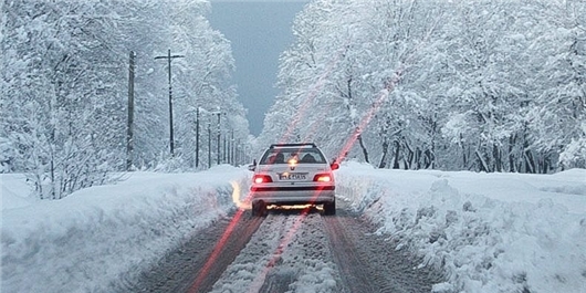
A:
[[[344,208],[238,211],[171,251],[121,292],[430,292],[441,282]]]

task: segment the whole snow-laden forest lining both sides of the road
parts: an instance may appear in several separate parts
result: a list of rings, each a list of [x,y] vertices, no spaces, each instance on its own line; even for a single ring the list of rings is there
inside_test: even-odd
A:
[[[0,172],[42,199],[284,142],[377,168],[586,168],[586,0],[310,1],[259,137],[213,3],[1,3]]]

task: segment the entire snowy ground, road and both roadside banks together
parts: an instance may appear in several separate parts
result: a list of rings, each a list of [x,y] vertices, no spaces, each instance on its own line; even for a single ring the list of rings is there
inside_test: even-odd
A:
[[[237,211],[250,172],[229,166],[133,172],[59,201],[0,175],[0,291],[586,292],[586,170],[347,163],[336,179],[335,217],[252,219]]]

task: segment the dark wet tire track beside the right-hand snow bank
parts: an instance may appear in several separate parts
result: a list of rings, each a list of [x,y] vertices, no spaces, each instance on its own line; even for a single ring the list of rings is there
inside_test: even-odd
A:
[[[418,293],[431,292],[440,274],[420,268],[409,252],[374,234],[367,221],[345,210],[324,217],[331,247],[348,292]]]

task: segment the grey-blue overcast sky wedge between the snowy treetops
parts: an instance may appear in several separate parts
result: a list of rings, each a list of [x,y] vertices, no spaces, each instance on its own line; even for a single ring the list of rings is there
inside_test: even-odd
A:
[[[232,44],[239,100],[248,109],[250,130],[258,136],[264,114],[279,93],[275,87],[279,56],[293,42],[295,14],[308,1],[212,0],[210,23]]]

